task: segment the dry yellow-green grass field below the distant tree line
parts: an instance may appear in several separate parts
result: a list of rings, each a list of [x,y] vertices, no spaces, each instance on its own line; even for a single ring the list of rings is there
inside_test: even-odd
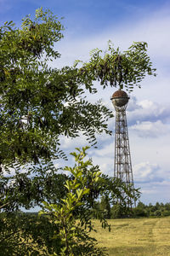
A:
[[[94,220],[99,247],[116,256],[170,256],[170,218],[111,219],[111,232]]]

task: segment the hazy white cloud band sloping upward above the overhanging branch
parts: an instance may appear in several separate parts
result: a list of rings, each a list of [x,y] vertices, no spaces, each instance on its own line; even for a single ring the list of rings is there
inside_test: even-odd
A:
[[[122,26],[110,24],[105,31],[94,34],[90,38],[87,36],[86,38],[71,38],[65,34],[65,40],[60,43],[63,61],[72,64],[75,59],[86,60],[91,49],[96,47],[105,49],[109,39],[116,47],[120,46],[122,49],[127,49],[133,41],[146,41],[149,44],[150,55],[168,61],[170,56],[169,23],[169,11],[162,9],[133,24],[127,23]]]

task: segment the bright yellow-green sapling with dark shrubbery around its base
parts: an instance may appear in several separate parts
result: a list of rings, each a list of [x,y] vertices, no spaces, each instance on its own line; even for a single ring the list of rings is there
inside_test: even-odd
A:
[[[94,228],[91,218],[96,210],[95,205],[99,197],[106,199],[107,204],[99,209],[98,218],[103,228],[111,230],[105,220],[111,208],[108,203],[120,197],[118,188],[121,191],[127,188],[121,181],[101,174],[99,166],[93,166],[92,160],[85,161],[86,149],[77,148],[78,154],[72,153],[76,165],[65,167],[71,176],[56,180],[54,184],[59,185],[62,194],[52,189],[53,193],[57,192],[52,196],[53,203],[49,198],[51,193],[46,194],[48,201],[46,198],[43,202],[41,216],[28,216],[20,212],[0,214],[0,251],[4,255],[20,253],[24,256],[28,252],[39,255],[39,251],[42,255],[105,255],[105,249],[99,250],[95,239],[90,236]],[[65,189],[59,183],[61,181]],[[27,195],[28,188],[22,194]]]

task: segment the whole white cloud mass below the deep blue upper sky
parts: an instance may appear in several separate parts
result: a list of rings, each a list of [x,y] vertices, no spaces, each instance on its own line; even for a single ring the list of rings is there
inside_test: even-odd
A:
[[[89,51],[98,47],[106,49],[109,39],[127,49],[133,41],[145,41],[149,45],[149,55],[153,66],[157,68],[156,78],[147,77],[142,82],[142,89],[134,88],[127,106],[127,124],[129,125],[129,140],[133,162],[134,182],[142,188],[141,201],[169,201],[169,143],[170,141],[170,105],[169,105],[169,59],[170,59],[170,15],[169,8],[160,9],[142,20],[123,23],[119,26],[110,24],[105,31],[87,38],[71,38],[66,35],[59,43],[58,50],[61,59],[54,61],[54,67],[72,65],[76,59],[88,61]],[[102,98],[108,108],[112,107],[110,97],[115,88],[102,90],[95,83],[99,93],[88,96],[96,101]],[[115,119],[109,121],[109,127],[114,128]],[[95,165],[102,172],[113,176],[114,137],[98,137],[100,148],[92,148]],[[111,140],[111,141],[110,141]],[[82,138],[77,143],[82,144]],[[73,141],[65,141],[65,148],[75,147]]]

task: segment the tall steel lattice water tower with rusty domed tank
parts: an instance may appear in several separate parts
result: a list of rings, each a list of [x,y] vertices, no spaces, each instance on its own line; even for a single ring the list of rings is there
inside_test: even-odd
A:
[[[127,131],[126,108],[129,97],[123,90],[116,90],[111,101],[116,110],[116,131],[115,131],[115,163],[114,177],[118,177],[126,184],[127,189],[133,185],[133,170],[130,155],[130,147]],[[130,185],[130,186],[129,186]],[[122,192],[123,194],[123,192]],[[135,201],[127,197],[127,207],[135,206]]]

